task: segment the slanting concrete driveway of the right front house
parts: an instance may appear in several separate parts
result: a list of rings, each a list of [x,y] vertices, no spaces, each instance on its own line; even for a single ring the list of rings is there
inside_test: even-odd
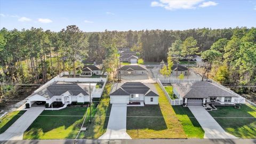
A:
[[[215,119],[202,106],[188,106],[204,129],[204,139],[237,139],[234,135],[225,132]]]

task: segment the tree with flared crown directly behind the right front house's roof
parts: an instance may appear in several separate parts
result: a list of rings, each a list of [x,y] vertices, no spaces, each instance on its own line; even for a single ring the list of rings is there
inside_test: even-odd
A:
[[[208,79],[209,71],[212,68],[214,62],[219,62],[221,58],[221,53],[216,50],[206,50],[201,53],[201,57],[203,60],[203,73],[202,73],[202,81],[207,74],[206,78]]]

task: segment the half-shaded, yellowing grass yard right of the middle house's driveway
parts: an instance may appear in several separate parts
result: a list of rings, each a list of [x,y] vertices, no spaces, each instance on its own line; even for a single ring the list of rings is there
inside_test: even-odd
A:
[[[126,132],[132,139],[187,138],[164,92],[158,84],[155,86],[160,95],[159,105],[127,107]]]

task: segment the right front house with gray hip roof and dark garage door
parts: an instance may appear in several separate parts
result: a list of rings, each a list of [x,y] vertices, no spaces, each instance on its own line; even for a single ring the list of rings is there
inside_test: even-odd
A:
[[[206,104],[235,104],[239,102],[238,95],[228,91],[223,86],[211,82],[173,83],[173,93],[183,100],[183,106],[206,106]]]

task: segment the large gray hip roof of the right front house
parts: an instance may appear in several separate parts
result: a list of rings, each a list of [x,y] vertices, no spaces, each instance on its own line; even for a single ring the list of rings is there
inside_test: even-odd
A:
[[[237,97],[210,82],[186,82],[172,84],[182,98]]]

